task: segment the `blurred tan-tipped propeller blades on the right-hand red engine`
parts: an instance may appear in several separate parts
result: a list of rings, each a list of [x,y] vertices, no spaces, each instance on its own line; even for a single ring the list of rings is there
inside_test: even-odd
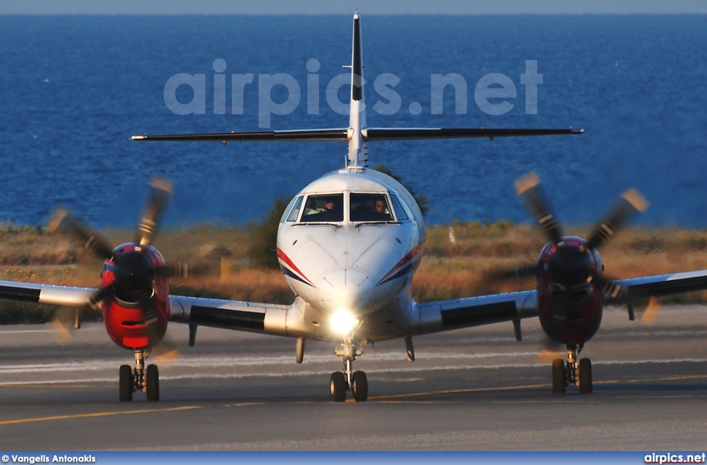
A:
[[[540,228],[556,247],[556,251],[547,264],[547,273],[549,273],[551,282],[559,290],[558,295],[562,295],[565,290],[578,288],[589,282],[602,289],[607,295],[611,295],[612,298],[624,302],[629,307],[629,318],[633,320],[635,315],[631,296],[618,283],[592,269],[591,254],[592,249],[599,249],[606,245],[614,234],[628,223],[633,214],[645,211],[648,208],[648,201],[636,189],[629,189],[621,194],[613,208],[590,230],[588,239],[583,245],[568,245],[565,242],[566,236],[563,235],[561,225],[551,213],[539,184],[539,177],[534,172],[530,172],[516,180],[515,191],[525,201]],[[538,273],[545,271],[539,267],[539,264],[519,266],[513,270],[496,273],[496,277],[537,276]]]

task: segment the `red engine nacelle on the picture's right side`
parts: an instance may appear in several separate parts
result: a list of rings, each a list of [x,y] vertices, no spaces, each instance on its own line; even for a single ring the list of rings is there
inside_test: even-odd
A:
[[[562,239],[561,247],[550,242],[540,252],[538,316],[542,329],[550,339],[580,345],[589,341],[599,329],[604,304],[602,289],[592,286],[590,279],[580,278],[573,283],[572,279],[563,281],[563,271],[552,269],[553,257],[559,249],[563,249],[562,254],[574,254],[575,258],[583,260],[589,276],[601,276],[604,266],[596,249],[585,249],[587,241],[583,238],[568,236]]]

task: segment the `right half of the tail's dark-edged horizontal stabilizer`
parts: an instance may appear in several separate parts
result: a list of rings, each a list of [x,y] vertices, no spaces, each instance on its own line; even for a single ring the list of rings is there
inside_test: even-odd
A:
[[[472,137],[559,136],[583,134],[584,129],[472,129],[472,128],[370,128],[363,130],[368,141],[411,139],[462,139]]]

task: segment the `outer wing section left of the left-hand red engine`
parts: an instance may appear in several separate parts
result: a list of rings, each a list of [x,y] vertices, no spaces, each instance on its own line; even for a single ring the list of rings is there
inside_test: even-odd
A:
[[[16,302],[83,307],[88,305],[88,298],[97,291],[98,288],[74,288],[0,281],[0,299],[14,300]]]

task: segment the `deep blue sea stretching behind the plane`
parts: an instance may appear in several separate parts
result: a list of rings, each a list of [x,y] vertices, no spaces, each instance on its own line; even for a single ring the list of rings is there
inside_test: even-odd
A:
[[[592,223],[636,187],[651,203],[637,223],[707,227],[707,16],[365,13],[368,126],[586,131],[370,143],[371,165],[385,164],[429,197],[428,223],[527,221],[513,180],[534,170],[566,223]],[[272,114],[269,129],[348,126],[326,90],[350,64],[350,16],[1,16],[0,47],[0,221],[45,224],[62,204],[98,228],[130,228],[158,173],[175,182],[168,225],[242,223],[344,165],[344,143],[129,138],[267,129],[259,127],[259,82],[280,73],[297,83],[300,101]],[[217,72],[218,59],[226,69]],[[310,59],[318,66],[308,70]],[[525,107],[527,61],[542,74],[537,114]],[[204,102],[203,114],[176,114],[165,103],[165,85],[180,73],[204,75],[203,95],[175,91],[182,105]],[[246,73],[254,77],[238,114],[241,89],[231,78]],[[432,75],[451,73],[467,85],[466,111],[448,87],[436,114]],[[225,89],[214,90],[216,74],[226,76]],[[376,90],[376,78],[389,74],[395,88]],[[509,102],[508,112],[477,105],[475,86],[489,74],[513,83],[515,98],[489,100]],[[376,103],[390,109],[391,89],[399,110],[375,111]],[[221,93],[225,114],[214,104]],[[318,97],[317,113],[308,96]],[[348,88],[334,87],[334,96],[346,103]],[[282,107],[288,90],[274,86],[268,97]]]

